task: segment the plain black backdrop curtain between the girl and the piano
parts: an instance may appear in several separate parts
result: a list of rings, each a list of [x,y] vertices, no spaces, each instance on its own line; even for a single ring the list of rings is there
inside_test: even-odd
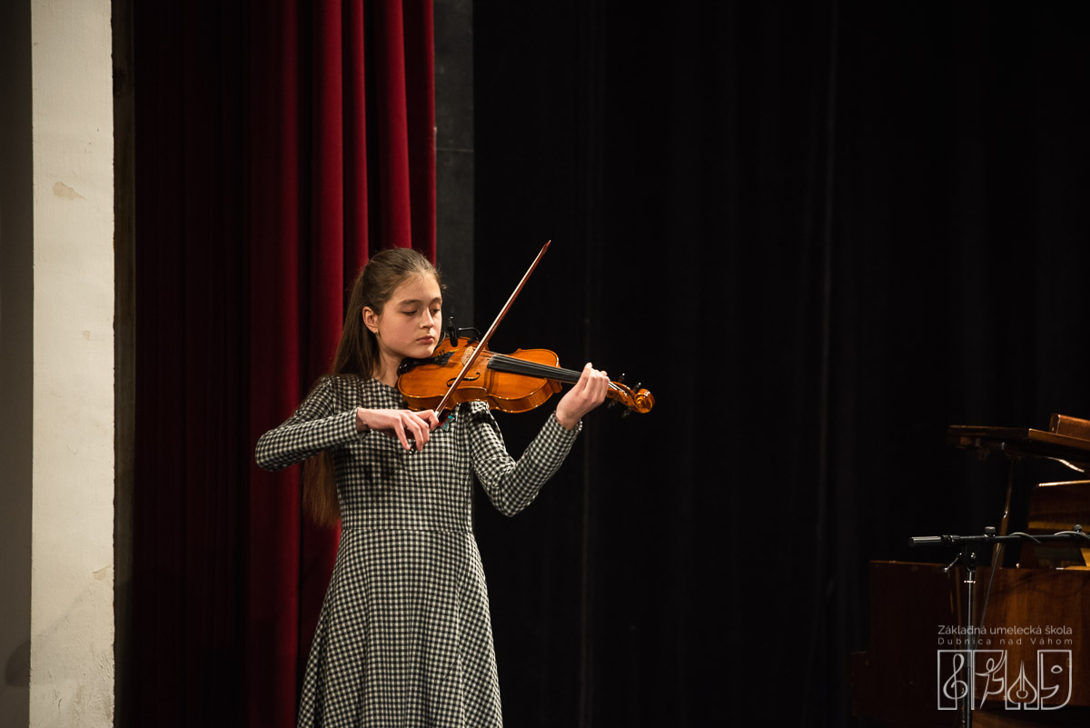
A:
[[[511,725],[855,725],[868,561],[1001,517],[947,426],[1090,416],[1083,15],[475,3],[475,324],[552,239],[493,348],[657,398],[479,509]]]

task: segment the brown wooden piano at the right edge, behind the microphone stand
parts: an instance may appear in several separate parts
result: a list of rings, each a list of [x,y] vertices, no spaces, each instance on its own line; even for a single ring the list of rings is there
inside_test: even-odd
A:
[[[1026,458],[1090,470],[1090,421],[1065,415],[1047,430],[955,425],[947,441],[1002,452],[1012,472]],[[1090,531],[1090,481],[1033,484],[1027,498],[1014,490],[1010,478],[1000,535],[1012,522],[1010,535]],[[971,622],[961,566],[871,562],[870,643],[849,662],[856,717],[891,728],[1090,726],[1090,548],[1078,537],[1018,544],[981,559],[995,567],[976,569]]]

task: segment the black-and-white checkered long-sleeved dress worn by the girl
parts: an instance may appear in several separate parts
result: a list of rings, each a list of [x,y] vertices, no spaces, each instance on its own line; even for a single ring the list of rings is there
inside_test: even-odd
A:
[[[257,441],[277,470],[331,449],[341,539],[311,647],[300,728],[500,726],[499,683],[472,474],[513,515],[537,495],[578,435],[550,415],[518,460],[488,408],[458,408],[447,429],[410,452],[358,433],[355,408],[404,408],[377,379],[326,377]]]

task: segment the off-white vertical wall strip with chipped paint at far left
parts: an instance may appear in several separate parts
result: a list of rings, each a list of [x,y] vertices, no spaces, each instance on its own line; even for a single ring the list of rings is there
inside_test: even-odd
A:
[[[109,0],[34,0],[29,725],[113,723]]]

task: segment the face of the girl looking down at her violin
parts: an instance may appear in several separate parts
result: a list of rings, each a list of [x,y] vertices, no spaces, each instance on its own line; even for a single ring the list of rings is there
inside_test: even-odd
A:
[[[434,276],[410,276],[376,314],[363,308],[363,323],[375,333],[384,369],[393,371],[407,357],[426,359],[439,342],[443,295]]]

